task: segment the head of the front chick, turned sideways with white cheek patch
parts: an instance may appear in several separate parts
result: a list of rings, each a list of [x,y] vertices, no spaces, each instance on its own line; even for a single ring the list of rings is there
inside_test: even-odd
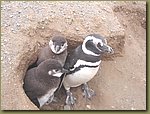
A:
[[[62,74],[66,73],[62,65],[55,59],[47,59],[38,66],[38,71],[47,73],[50,76],[61,77]]]

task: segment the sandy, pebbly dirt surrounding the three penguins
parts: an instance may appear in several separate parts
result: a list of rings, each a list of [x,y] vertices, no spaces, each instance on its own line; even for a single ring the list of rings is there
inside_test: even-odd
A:
[[[47,6],[50,9],[45,12]],[[57,10],[60,13],[56,13]],[[110,43],[113,40],[111,35],[122,36],[121,43],[117,44],[118,40],[111,43],[120,57],[102,62],[99,72],[88,83],[96,92],[90,101],[83,98],[81,87],[71,89],[77,98],[73,109],[146,110],[146,2],[2,2],[1,11],[3,110],[36,109],[22,89],[22,75],[31,63],[31,57],[35,57],[37,48],[47,43],[48,36],[61,33],[69,37],[69,42],[72,38],[81,43],[80,38],[93,32],[109,37]],[[90,15],[93,18],[89,18]],[[47,29],[49,26],[51,28]],[[77,45],[73,43],[71,45]],[[35,44],[37,47],[32,46]],[[117,48],[116,44],[120,46]],[[42,110],[63,110],[64,90],[56,96],[58,102],[44,106]]]

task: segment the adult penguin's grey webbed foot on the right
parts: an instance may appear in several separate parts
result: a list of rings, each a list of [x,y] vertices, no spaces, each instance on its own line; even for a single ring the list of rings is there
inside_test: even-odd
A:
[[[82,90],[83,90],[83,96],[88,99],[91,99],[92,96],[96,95],[95,92],[88,87],[87,83],[83,84]]]

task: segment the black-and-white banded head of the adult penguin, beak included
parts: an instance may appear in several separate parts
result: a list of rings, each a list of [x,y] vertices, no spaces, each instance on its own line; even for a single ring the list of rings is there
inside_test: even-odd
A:
[[[84,53],[94,56],[100,56],[103,53],[114,53],[113,49],[107,45],[107,40],[99,34],[86,36],[82,44]]]

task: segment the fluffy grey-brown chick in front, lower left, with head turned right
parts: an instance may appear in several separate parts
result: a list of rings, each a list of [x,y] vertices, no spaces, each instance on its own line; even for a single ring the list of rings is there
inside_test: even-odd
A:
[[[25,93],[37,107],[52,102],[64,72],[66,70],[57,60],[45,60],[26,72],[23,85]]]

